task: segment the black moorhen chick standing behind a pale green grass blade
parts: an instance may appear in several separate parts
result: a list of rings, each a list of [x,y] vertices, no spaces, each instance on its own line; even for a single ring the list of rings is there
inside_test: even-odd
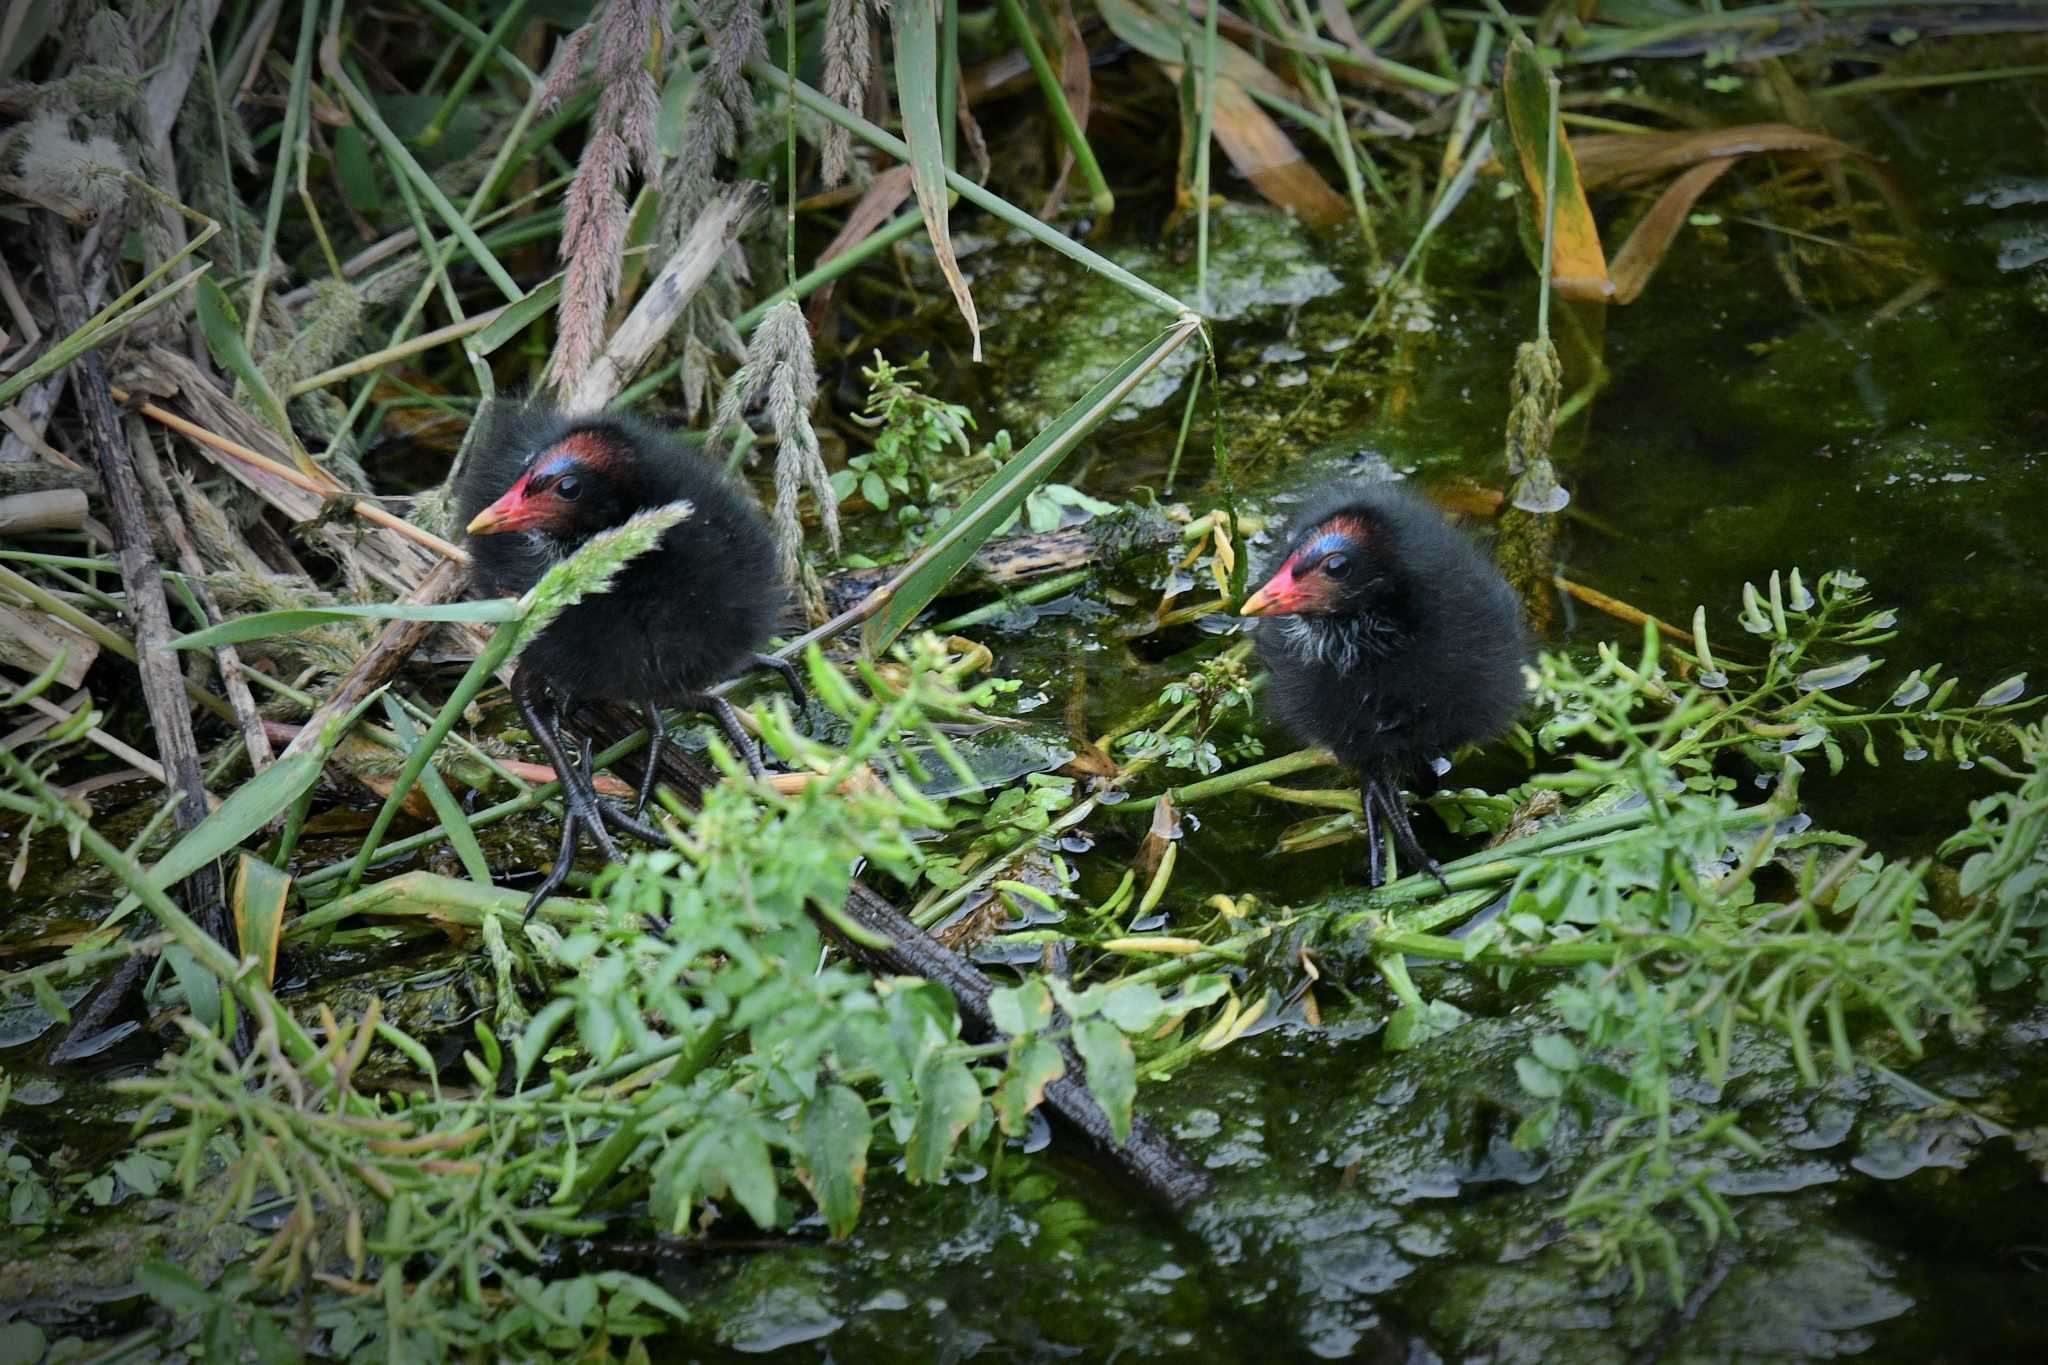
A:
[[[606,823],[662,841],[639,819],[664,741],[657,706],[715,716],[758,774],[739,718],[707,688],[772,667],[799,700],[803,690],[795,667],[756,653],[786,600],[774,536],[748,493],[707,463],[696,442],[637,417],[573,417],[541,403],[500,403],[483,422],[455,487],[483,593],[524,593],[559,559],[635,512],[692,505],[655,548],[612,579],[610,591],[561,612],[518,659],[512,700],[555,765],[565,806],[561,853],[526,902],[530,915],[569,874],[578,827],[612,862],[618,849]],[[647,718],[647,772],[631,812],[598,796],[588,739],[582,769],[567,761],[561,722],[584,702],[637,702]]]

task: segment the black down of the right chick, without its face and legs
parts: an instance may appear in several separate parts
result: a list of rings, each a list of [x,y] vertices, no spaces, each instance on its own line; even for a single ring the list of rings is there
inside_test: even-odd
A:
[[[1356,612],[1260,622],[1268,712],[1360,774],[1413,774],[1505,731],[1526,700],[1528,632],[1493,561],[1401,487],[1348,483],[1290,518],[1268,571],[1331,518],[1368,528],[1372,587]]]

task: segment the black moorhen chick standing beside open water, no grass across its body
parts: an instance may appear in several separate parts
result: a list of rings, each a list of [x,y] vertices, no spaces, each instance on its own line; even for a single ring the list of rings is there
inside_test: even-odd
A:
[[[1257,649],[1266,704],[1358,774],[1366,870],[1386,880],[1380,821],[1401,857],[1442,872],[1415,841],[1401,780],[1491,739],[1524,702],[1522,606],[1485,553],[1391,483],[1348,483],[1303,503],[1280,569],[1239,608],[1272,616]]]

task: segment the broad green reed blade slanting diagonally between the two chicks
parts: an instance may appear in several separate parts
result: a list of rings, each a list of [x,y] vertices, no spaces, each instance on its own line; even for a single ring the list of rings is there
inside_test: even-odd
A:
[[[1116,411],[1124,395],[1196,332],[1194,321],[1180,321],[1133,352],[975,489],[973,497],[961,503],[961,510],[946,520],[932,542],[883,589],[889,593],[889,602],[862,626],[860,647],[870,657],[889,649],[918,618],[918,612],[930,606],[952,581],[952,575],[967,567],[983,540],[995,534],[1024,505],[1030,491],[1059,469],[1073,446]]]

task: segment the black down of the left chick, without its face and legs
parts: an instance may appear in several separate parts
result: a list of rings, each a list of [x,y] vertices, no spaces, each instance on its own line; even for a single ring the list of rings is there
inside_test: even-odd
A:
[[[786,596],[774,536],[752,495],[727,481],[696,440],[639,417],[571,417],[539,403],[500,403],[483,422],[455,489],[465,522],[571,436],[592,434],[631,456],[598,473],[604,487],[588,495],[590,516],[569,534],[469,536],[483,593],[524,593],[592,534],[635,512],[678,499],[692,505],[655,548],[627,563],[610,591],[557,616],[520,655],[522,669],[578,702],[672,702],[752,665]]]

